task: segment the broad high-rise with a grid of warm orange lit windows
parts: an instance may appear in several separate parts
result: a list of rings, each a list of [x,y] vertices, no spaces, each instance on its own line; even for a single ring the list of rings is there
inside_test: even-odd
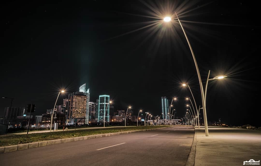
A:
[[[68,95],[67,110],[69,118],[85,120],[86,98],[87,96],[84,92],[76,92]]]

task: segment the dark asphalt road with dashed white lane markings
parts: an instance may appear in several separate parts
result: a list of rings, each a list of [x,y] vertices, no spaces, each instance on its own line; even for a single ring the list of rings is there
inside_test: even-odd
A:
[[[0,154],[1,165],[185,165],[194,128],[171,127]]]

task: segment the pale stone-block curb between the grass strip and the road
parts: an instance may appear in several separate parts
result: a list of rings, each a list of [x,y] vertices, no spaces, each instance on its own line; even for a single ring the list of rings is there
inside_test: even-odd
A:
[[[169,127],[156,128],[156,129],[164,129],[164,128],[169,128]],[[55,144],[60,144],[60,143],[89,140],[89,139],[94,139],[94,138],[101,138],[101,137],[108,137],[108,136],[115,136],[115,135],[122,135],[122,134],[131,134],[134,132],[150,131],[150,130],[156,130],[156,129],[113,132],[113,133],[107,133],[107,134],[88,135],[88,136],[64,138],[64,139],[57,139],[57,140],[50,140],[50,141],[23,143],[23,144],[18,144],[18,145],[11,145],[11,146],[2,146],[2,147],[0,147],[0,154],[20,151],[20,150],[25,150],[25,149],[31,149],[31,148],[38,148],[38,147],[43,147],[43,146],[50,146],[50,145],[55,145]]]

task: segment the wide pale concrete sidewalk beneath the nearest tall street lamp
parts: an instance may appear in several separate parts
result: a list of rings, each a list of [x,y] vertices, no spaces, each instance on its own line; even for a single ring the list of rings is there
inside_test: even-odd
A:
[[[261,160],[261,131],[209,127],[195,127],[195,165],[243,165],[244,161]]]

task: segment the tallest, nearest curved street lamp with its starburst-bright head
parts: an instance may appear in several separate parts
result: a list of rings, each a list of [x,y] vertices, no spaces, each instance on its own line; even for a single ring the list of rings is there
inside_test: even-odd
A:
[[[191,54],[192,54],[192,57],[193,57],[193,60],[194,60],[194,63],[195,63],[195,67],[196,67],[196,70],[197,70],[197,74],[198,74],[198,80],[199,80],[199,86],[200,86],[200,91],[201,91],[201,99],[202,99],[202,104],[203,104],[203,115],[204,115],[204,123],[205,123],[205,135],[206,136],[209,136],[209,130],[208,130],[208,127],[207,127],[207,114],[206,114],[206,106],[205,106],[205,97],[204,97],[204,91],[203,91],[203,85],[202,85],[202,81],[201,81],[201,76],[200,76],[200,73],[199,73],[199,68],[198,68],[198,64],[197,64],[197,61],[196,61],[196,58],[195,58],[195,55],[194,55],[194,52],[192,50],[192,47],[189,43],[189,40],[188,40],[188,37],[187,37],[187,34],[179,20],[179,17],[177,15],[177,13],[175,12],[176,16],[177,16],[177,19],[180,23],[180,26],[184,32],[184,35],[186,37],[186,40],[188,42],[188,46],[190,48],[190,51],[191,51]],[[165,22],[170,22],[171,21],[171,18],[168,18],[168,17],[165,17],[164,18],[164,21]]]

